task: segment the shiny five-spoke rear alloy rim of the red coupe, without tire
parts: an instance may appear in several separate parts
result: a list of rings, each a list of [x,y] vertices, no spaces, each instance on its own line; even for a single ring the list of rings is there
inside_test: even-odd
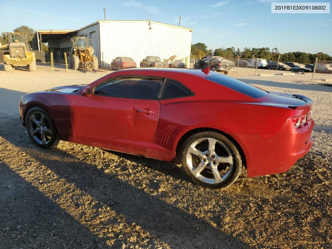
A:
[[[233,170],[229,148],[214,138],[194,141],[186,152],[187,167],[202,182],[216,184],[226,180]]]

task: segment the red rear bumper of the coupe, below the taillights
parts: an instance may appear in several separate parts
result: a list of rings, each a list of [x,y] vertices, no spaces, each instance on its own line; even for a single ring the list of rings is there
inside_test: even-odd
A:
[[[246,156],[248,177],[283,173],[310,150],[314,121],[295,129],[291,120],[273,138],[236,134]],[[241,144],[240,144],[241,145]]]

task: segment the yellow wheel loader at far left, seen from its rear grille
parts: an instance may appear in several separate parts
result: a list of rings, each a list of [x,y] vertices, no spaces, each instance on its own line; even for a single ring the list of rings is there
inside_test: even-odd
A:
[[[3,38],[5,40],[6,36]],[[5,70],[13,71],[18,66],[29,67],[30,72],[36,72],[36,56],[28,43],[27,34],[8,32],[7,38],[8,44],[0,44],[0,48],[7,47],[3,53]]]

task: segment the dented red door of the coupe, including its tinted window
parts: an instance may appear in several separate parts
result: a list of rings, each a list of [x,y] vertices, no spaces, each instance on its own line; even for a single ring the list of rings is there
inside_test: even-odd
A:
[[[155,133],[162,79],[112,78],[93,94],[76,96],[71,119],[76,139],[143,151]]]

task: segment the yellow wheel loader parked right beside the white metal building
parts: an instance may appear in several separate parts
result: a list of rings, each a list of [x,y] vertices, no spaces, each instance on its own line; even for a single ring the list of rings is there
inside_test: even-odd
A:
[[[74,70],[79,69],[80,66],[88,71],[98,70],[98,58],[96,55],[92,55],[94,50],[92,46],[89,46],[89,39],[73,37],[70,41],[73,46],[67,57],[68,67],[74,68]]]

